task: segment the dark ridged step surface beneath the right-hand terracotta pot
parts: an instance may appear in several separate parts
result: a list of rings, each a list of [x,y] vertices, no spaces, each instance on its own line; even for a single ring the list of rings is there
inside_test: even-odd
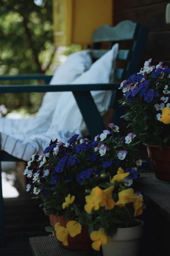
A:
[[[154,173],[143,173],[136,187],[160,208],[160,214],[170,221],[170,181],[157,179]]]

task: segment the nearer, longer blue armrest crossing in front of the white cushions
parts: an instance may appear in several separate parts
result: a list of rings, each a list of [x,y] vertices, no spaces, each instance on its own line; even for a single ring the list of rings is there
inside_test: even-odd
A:
[[[1,85],[0,93],[33,93],[33,92],[87,92],[115,91],[120,83],[110,84],[69,84],[69,85]]]

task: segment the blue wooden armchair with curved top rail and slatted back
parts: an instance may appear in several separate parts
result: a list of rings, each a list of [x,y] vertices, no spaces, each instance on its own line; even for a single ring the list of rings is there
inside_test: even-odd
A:
[[[106,51],[111,49],[116,42],[133,40],[132,50],[119,50],[118,60],[128,61],[126,69],[116,69],[115,78],[120,81],[128,78],[137,72],[143,47],[148,35],[148,28],[131,21],[122,21],[118,25],[111,27],[108,25],[100,26],[95,29],[92,35],[92,59],[96,60],[103,56]],[[108,50],[100,49],[101,43],[110,42]],[[120,116],[124,109],[119,108],[118,99],[122,98],[122,91],[118,90],[120,82],[110,84],[84,84],[81,85],[49,85],[52,76],[46,75],[20,75],[20,76],[0,76],[0,80],[44,80],[43,85],[8,85],[0,86],[0,93],[30,93],[30,92],[67,92],[72,91],[77,101],[78,107],[82,113],[84,121],[92,138],[96,134],[106,129],[103,120],[93,101],[90,91],[112,90],[112,100],[110,107],[113,108],[114,114],[112,122],[120,125]],[[87,108],[88,102],[88,108]],[[96,125],[97,124],[97,125]],[[4,210],[1,183],[1,161],[21,161],[7,152],[0,151],[0,243],[4,244]]]

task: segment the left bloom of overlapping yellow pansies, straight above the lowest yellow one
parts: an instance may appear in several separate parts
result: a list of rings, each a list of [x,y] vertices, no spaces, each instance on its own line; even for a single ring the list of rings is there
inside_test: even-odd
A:
[[[101,201],[101,198],[98,196],[86,196],[86,205],[84,206],[84,210],[86,211],[86,213],[91,213],[92,209],[94,209],[94,211],[97,211],[99,209],[99,203]]]

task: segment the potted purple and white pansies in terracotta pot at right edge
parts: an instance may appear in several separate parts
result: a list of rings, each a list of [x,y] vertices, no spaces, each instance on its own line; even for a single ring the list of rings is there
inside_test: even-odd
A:
[[[145,61],[139,73],[124,80],[121,104],[127,106],[122,116],[138,139],[147,145],[155,176],[170,179],[170,69],[159,62]]]

